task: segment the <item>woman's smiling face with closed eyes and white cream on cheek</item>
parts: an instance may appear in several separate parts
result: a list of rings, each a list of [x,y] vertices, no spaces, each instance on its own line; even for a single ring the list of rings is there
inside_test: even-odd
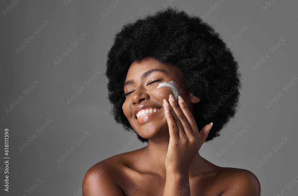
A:
[[[143,75],[146,72],[147,74]],[[141,78],[142,76],[144,78]],[[163,99],[168,101],[170,94],[175,97],[175,91],[183,97],[189,106],[190,94],[183,86],[179,68],[160,63],[152,57],[131,64],[124,85],[126,99],[123,104],[123,112],[131,126],[141,137],[158,139],[169,136]],[[178,102],[178,98],[176,102]],[[146,110],[148,113],[149,110],[149,114],[142,115],[142,110],[143,113]],[[140,117],[138,118],[138,116]]]

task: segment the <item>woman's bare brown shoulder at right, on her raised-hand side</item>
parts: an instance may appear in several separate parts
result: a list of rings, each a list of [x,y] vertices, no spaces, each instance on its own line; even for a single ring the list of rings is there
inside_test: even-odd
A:
[[[260,196],[261,186],[257,176],[249,170],[222,167],[218,170],[219,179],[225,184],[225,195]]]

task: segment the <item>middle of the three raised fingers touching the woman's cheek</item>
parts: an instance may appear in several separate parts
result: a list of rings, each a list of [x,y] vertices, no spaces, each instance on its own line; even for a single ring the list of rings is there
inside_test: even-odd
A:
[[[186,120],[184,114],[182,113],[178,103],[175,101],[174,97],[172,94],[170,94],[170,98],[169,98],[169,101],[170,101],[170,105],[173,109],[173,112],[176,114],[179,123],[181,124],[181,127],[183,130],[181,130],[181,134],[186,134],[187,137],[191,137],[193,136],[193,133],[192,133],[192,130],[189,126],[189,123],[188,121]],[[176,120],[175,120],[176,121]],[[179,131],[179,137],[180,137],[180,130],[179,130],[179,127],[178,127],[178,131]]]

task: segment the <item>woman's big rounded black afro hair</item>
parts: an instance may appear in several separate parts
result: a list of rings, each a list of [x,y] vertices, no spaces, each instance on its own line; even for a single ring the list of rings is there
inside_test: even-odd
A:
[[[124,24],[107,55],[108,100],[117,124],[133,130],[123,113],[123,85],[130,65],[145,57],[178,67],[184,87],[201,101],[193,105],[199,131],[210,122],[206,141],[220,136],[237,112],[241,89],[238,61],[212,25],[176,7],[157,10]],[[137,137],[142,142],[148,139]]]

